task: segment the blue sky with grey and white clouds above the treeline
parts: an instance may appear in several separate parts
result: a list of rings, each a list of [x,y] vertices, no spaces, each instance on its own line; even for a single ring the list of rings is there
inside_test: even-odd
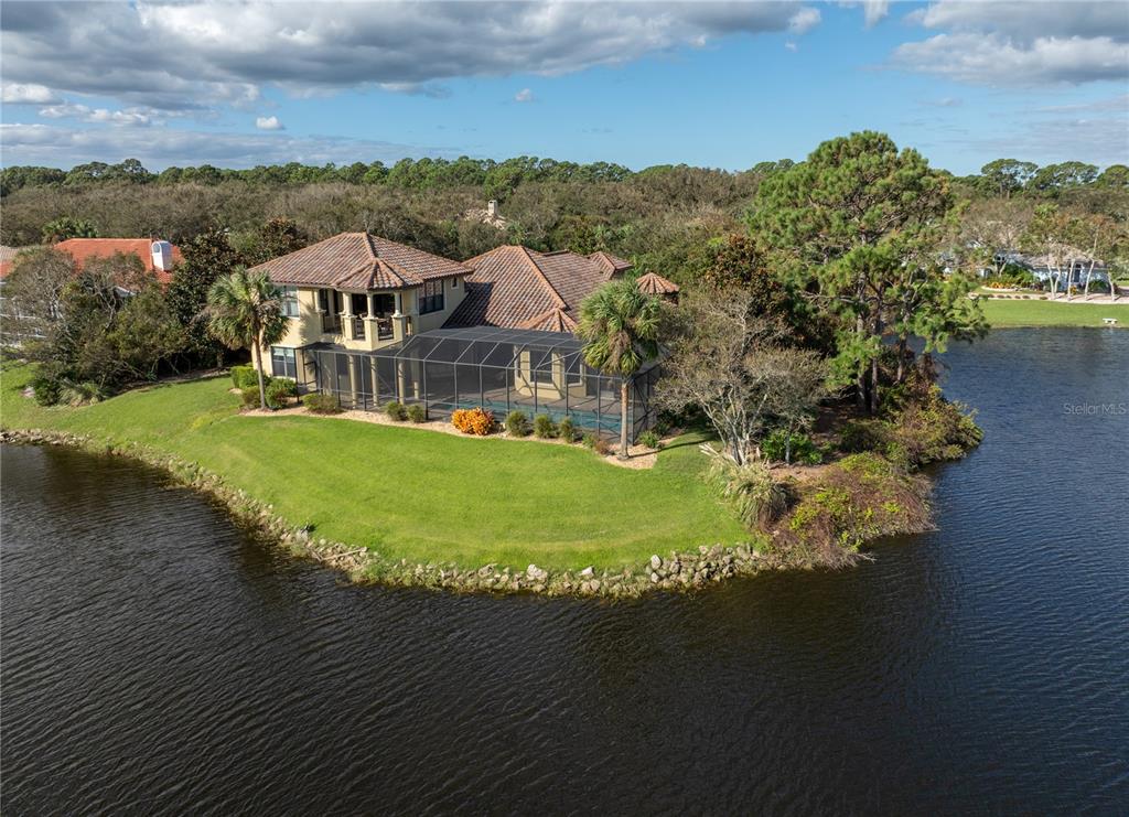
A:
[[[1129,3],[15,2],[0,162],[1129,164]]]

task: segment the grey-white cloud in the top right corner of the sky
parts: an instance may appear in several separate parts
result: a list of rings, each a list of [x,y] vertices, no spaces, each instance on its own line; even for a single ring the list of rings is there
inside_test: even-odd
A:
[[[898,68],[989,86],[1038,87],[1129,76],[1129,12],[1121,2],[957,2],[909,15],[944,29],[903,43]]]

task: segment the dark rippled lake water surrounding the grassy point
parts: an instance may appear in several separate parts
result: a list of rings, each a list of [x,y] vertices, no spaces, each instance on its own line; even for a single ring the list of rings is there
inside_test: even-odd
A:
[[[339,586],[158,475],[7,448],[2,810],[1129,812],[1129,332],[947,355],[936,534],[606,605]]]

